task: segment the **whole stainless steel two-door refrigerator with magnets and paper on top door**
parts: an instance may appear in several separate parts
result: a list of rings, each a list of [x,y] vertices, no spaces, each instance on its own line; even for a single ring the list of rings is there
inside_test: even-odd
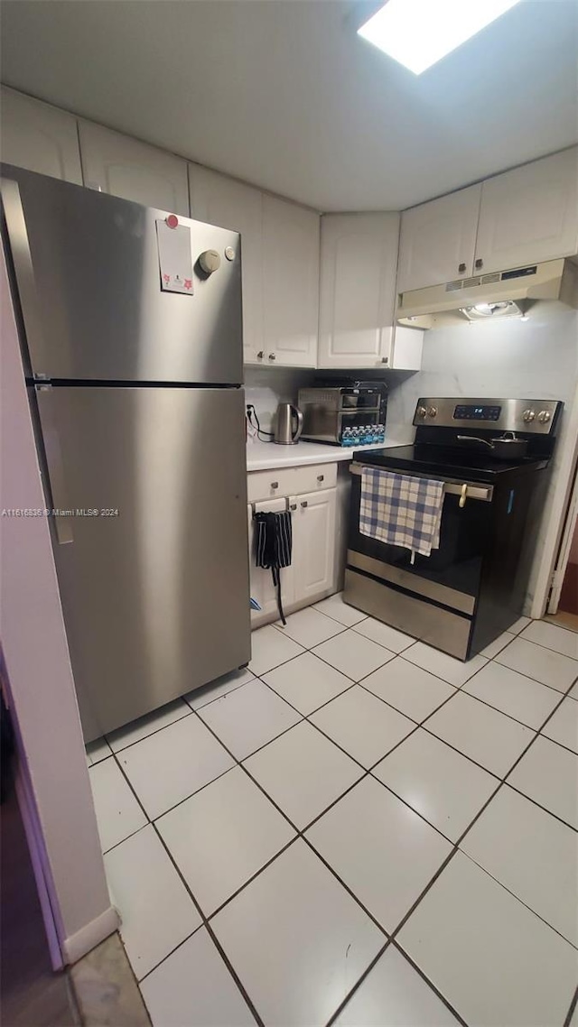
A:
[[[240,238],[6,165],[2,204],[88,741],[250,658]]]

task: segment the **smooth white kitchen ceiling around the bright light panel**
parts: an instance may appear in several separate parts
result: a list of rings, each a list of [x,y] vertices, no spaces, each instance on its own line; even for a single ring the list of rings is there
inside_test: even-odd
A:
[[[402,208],[578,140],[578,0],[522,0],[420,77],[356,35],[372,7],[4,0],[2,79],[322,211]]]

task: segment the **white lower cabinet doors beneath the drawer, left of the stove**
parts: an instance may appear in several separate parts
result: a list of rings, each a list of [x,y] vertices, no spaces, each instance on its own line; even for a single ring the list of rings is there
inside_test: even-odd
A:
[[[279,514],[289,506],[292,514],[291,565],[281,570],[281,598],[286,613],[308,606],[335,591],[336,488],[302,493],[256,503],[256,512]],[[277,593],[270,570],[255,564],[256,525],[253,506],[248,507],[251,596],[260,610],[251,612],[251,626],[277,620]]]

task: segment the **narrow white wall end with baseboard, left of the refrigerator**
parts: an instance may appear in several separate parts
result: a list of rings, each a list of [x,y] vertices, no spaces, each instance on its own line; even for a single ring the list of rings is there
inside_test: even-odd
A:
[[[2,255],[0,508],[43,508],[30,409]],[[0,516],[0,638],[21,771],[63,960],[117,926],[86,769],[49,529],[44,517]]]

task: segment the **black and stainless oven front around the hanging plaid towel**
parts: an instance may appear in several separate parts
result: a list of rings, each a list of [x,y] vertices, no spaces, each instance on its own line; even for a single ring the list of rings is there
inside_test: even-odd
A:
[[[422,630],[420,624],[413,624],[413,627],[418,637],[429,637],[434,645],[441,619],[435,615],[435,608],[440,613],[443,610],[453,611],[454,615],[449,619],[445,617],[444,622],[449,634],[463,637],[464,642],[458,644],[456,652],[457,655],[458,652],[462,655],[475,611],[484,556],[491,544],[494,487],[479,482],[445,480],[439,548],[433,549],[429,557],[417,554],[412,564],[409,549],[389,545],[360,532],[361,466],[353,464],[351,470],[353,480],[347,561],[350,584],[352,577],[349,572],[355,574],[356,580],[360,577],[372,578],[376,584],[387,584],[397,594],[397,597],[390,597],[390,603],[399,610],[403,622],[408,619],[408,606],[404,597],[420,599],[430,605],[429,629]],[[367,593],[378,594],[369,583],[364,588]],[[374,609],[369,612],[380,615]],[[389,618],[388,622],[391,622]]]

